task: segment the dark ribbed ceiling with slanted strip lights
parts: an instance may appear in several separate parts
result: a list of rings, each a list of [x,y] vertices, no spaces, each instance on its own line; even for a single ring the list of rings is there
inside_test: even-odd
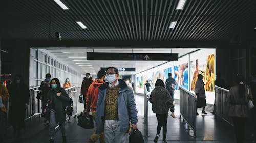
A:
[[[255,0],[53,0],[1,2],[2,38],[63,40],[227,40],[255,36]],[[82,21],[82,30],[75,21]],[[170,23],[177,21],[174,29]]]

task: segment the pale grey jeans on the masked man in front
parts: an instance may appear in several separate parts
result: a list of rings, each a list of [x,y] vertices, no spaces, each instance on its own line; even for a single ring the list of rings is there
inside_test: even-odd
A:
[[[128,143],[128,133],[120,132],[118,120],[105,120],[104,133],[106,143]]]

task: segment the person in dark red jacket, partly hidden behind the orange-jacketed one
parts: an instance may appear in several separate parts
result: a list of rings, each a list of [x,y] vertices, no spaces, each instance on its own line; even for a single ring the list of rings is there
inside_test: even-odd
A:
[[[86,73],[86,77],[83,78],[82,87],[81,87],[81,95],[83,95],[83,106],[84,110],[86,110],[86,93],[89,86],[93,83],[93,79],[90,76],[90,73]]]

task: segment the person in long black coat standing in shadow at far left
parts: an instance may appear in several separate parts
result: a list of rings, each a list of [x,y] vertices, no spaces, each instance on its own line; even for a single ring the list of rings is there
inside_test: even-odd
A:
[[[25,85],[22,76],[15,76],[9,94],[9,122],[14,128],[14,136],[20,137],[20,130],[25,129],[24,119],[29,106],[29,88]]]

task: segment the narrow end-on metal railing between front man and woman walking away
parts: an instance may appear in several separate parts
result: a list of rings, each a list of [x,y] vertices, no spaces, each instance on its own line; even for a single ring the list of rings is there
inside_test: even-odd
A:
[[[150,98],[150,95],[147,92],[146,86],[144,88],[144,129],[145,136],[148,137],[148,99]]]

